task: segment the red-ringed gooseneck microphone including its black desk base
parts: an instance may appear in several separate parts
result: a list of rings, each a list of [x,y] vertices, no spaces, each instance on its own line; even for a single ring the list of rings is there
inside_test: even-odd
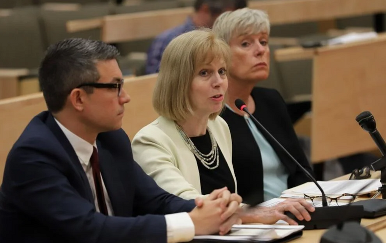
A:
[[[322,207],[316,207],[314,212],[310,212],[311,220],[300,221],[290,212],[286,212],[289,217],[297,221],[299,224],[304,225],[304,229],[323,229],[328,228],[337,221],[341,220],[341,215],[345,215],[348,220],[358,221],[360,222],[361,217],[363,215],[363,206],[355,205],[355,206],[328,206],[327,197],[324,193],[324,190],[320,186],[320,184],[316,181],[316,179],[284,148],[284,146],[249,112],[247,105],[241,99],[235,100],[235,105],[238,109],[246,112],[249,116],[255,121],[255,124],[263,130],[279,147],[291,158],[294,163],[307,175],[308,178],[311,179],[312,182],[319,188],[322,194]]]

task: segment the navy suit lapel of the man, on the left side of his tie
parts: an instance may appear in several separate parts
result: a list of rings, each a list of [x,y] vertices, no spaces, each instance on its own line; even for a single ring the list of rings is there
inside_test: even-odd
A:
[[[72,147],[70,141],[67,139],[62,129],[60,129],[58,123],[55,121],[54,116],[52,116],[51,113],[47,117],[46,124],[50,128],[50,130],[54,133],[54,135],[58,138],[58,141],[62,144],[63,148],[66,150],[67,155],[69,156],[69,159],[71,160],[74,169],[78,172],[79,176],[81,177],[84,184],[84,189],[87,195],[87,199],[93,205],[95,205],[90,183],[87,179],[86,173],[84,172],[82,164],[80,163],[79,158],[76,155],[75,150]]]

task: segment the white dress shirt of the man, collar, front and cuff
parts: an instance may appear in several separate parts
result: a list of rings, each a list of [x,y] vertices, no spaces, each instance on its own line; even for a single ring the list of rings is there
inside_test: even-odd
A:
[[[97,148],[96,142],[94,141],[94,144],[87,142],[83,138],[77,136],[69,129],[67,129],[57,119],[55,119],[55,121],[58,123],[63,133],[70,141],[71,145],[75,150],[76,155],[79,158],[80,163],[82,164],[82,167],[87,175],[88,181],[91,186],[96,210],[99,212],[98,200],[96,197],[96,190],[95,190],[95,184],[94,184],[94,177],[92,174],[92,168],[90,164],[90,158],[93,152],[93,146]],[[102,174],[101,174],[101,177],[102,177],[102,186],[103,186],[103,192],[105,195],[108,215],[114,215],[113,208],[111,206],[110,197],[107,193],[105,183],[103,182]],[[165,220],[166,220],[168,243],[190,241],[195,236],[195,225],[187,212],[166,214]]]

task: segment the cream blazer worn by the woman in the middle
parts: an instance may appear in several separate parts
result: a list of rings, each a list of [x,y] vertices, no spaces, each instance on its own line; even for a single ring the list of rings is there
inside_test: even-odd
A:
[[[217,116],[214,120],[209,120],[208,127],[223,152],[237,192],[228,125],[223,118]],[[135,135],[132,148],[135,161],[166,191],[185,199],[202,194],[195,155],[184,143],[173,120],[160,116],[143,127]]]

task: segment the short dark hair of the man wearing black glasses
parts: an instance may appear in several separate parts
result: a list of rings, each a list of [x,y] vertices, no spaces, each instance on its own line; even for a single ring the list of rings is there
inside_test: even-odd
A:
[[[39,84],[51,112],[63,109],[72,89],[96,82],[99,60],[116,59],[119,51],[98,40],[69,38],[48,47],[39,68]],[[92,92],[92,88],[86,90]]]

